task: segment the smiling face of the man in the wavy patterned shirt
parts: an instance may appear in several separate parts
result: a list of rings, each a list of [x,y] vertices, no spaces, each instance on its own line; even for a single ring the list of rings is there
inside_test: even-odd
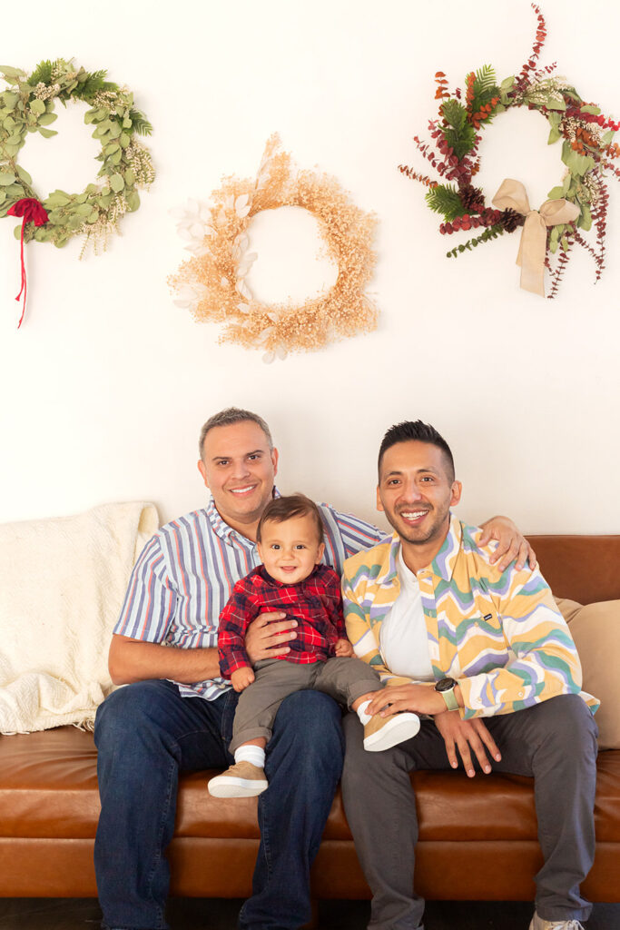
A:
[[[381,460],[377,510],[405,542],[442,541],[450,508],[461,496],[460,482],[451,478],[439,446],[417,440],[390,445]]]

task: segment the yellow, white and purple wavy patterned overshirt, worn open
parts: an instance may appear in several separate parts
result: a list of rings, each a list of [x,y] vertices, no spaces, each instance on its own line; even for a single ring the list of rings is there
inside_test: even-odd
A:
[[[504,572],[489,562],[494,545],[478,547],[481,529],[451,517],[442,549],[417,572],[433,674],[455,678],[461,716],[488,717],[531,707],[561,694],[581,694],[581,664],[568,626],[537,568]],[[342,579],[347,632],[355,653],[387,684],[379,648],[383,618],[400,592],[394,536],[347,559]]]

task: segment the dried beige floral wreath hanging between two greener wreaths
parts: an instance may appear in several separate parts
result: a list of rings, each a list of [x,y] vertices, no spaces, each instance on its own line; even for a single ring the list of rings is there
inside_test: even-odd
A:
[[[301,206],[316,217],[338,268],[335,285],[302,304],[260,303],[245,283],[257,259],[247,251],[250,219],[280,206]],[[335,178],[295,170],[277,134],[267,142],[256,179],[226,178],[209,206],[191,200],[171,213],[193,254],[169,278],[175,303],[198,321],[224,324],[220,341],[261,349],[272,362],[376,328],[376,306],[364,294],[376,261],[375,215],[354,206]]]

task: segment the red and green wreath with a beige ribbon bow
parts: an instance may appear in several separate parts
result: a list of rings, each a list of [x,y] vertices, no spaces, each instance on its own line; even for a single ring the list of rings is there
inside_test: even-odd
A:
[[[549,77],[555,63],[537,68],[547,26],[540,7],[532,4],[532,8],[537,18],[534,45],[517,77],[508,77],[498,85],[493,68],[485,65],[475,73],[468,73],[465,91],[456,88],[451,93],[445,74],[435,74],[435,99],[441,103],[439,118],[429,121],[433,142],[429,144],[417,136],[414,141],[443,182],[419,174],[409,166],[401,165],[399,170],[429,188],[426,200],[430,209],[443,216],[440,226],[443,235],[483,229],[447,252],[449,258],[522,227],[517,258],[521,265],[521,287],[544,297],[547,268],[551,272],[548,296],[553,298],[574,245],[585,248],[594,259],[595,281],[604,268],[609,199],[604,172],[609,170],[620,178],[620,171],[612,164],[612,159],[620,154],[620,146],[613,143],[613,134],[620,124],[602,115],[595,104],[584,102],[563,77]],[[542,113],[550,128],[548,144],[562,141],[564,177],[537,210],[530,207],[519,180],[504,180],[491,206],[487,205],[481,188],[472,183],[481,164],[478,156],[481,130],[498,113],[515,107]],[[596,231],[594,246],[584,237],[592,226]],[[557,256],[555,262],[551,256]]]

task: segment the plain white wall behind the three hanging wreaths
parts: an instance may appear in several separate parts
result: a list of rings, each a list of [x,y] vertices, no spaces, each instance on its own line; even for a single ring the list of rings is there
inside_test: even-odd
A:
[[[235,404],[270,420],[285,490],[372,517],[380,437],[421,417],[453,445],[467,519],[507,512],[530,532],[619,532],[620,184],[611,181],[602,280],[593,285],[593,264],[577,252],[551,301],[518,287],[518,234],[444,259],[457,237],[439,235],[424,189],[396,170],[425,170],[411,137],[435,114],[436,71],[463,86],[485,63],[499,79],[521,68],[535,31],[529,4],[159,8],[31,0],[27,24],[5,42],[7,64],[31,70],[74,55],[129,86],[155,127],[158,178],[106,254],[78,261],[77,243],[28,247],[19,332],[19,245],[13,221],[0,221],[0,520],[130,498],[152,499],[164,519],[190,510],[204,500],[197,432]],[[543,12],[543,63],[558,60],[585,99],[620,117],[615,5],[544,0]],[[62,126],[20,155],[44,196],[46,185],[81,189],[97,170],[77,115]],[[168,210],[207,199],[224,174],[252,176],[276,130],[300,166],[336,175],[376,211],[382,313],[375,334],[264,365],[173,305],[166,276],[187,253]],[[513,176],[538,206],[562,175],[546,137],[536,113],[497,119],[481,150],[489,199]],[[286,247],[284,237],[284,262]]]

